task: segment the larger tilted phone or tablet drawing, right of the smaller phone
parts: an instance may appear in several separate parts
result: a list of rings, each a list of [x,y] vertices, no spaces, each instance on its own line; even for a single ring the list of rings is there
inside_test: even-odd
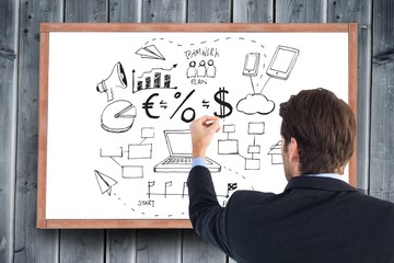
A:
[[[267,75],[273,78],[287,80],[294,67],[299,53],[299,49],[292,47],[278,46],[269,62]]]

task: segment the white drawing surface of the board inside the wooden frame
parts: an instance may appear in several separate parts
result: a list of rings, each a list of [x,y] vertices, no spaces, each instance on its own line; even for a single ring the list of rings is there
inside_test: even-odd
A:
[[[280,193],[280,103],[315,88],[349,101],[347,31],[132,28],[46,33],[45,221],[188,222],[201,115],[221,118],[207,152],[220,205]]]

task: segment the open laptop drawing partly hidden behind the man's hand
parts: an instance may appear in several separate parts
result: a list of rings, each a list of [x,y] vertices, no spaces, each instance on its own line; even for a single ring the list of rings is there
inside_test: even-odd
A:
[[[192,137],[189,129],[164,130],[170,156],[153,168],[154,172],[181,173],[192,169]],[[210,172],[220,172],[221,165],[206,157]]]

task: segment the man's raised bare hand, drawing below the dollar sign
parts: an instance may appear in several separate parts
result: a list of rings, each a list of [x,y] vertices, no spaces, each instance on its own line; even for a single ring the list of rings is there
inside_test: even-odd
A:
[[[215,133],[220,130],[220,118],[202,116],[190,124],[193,157],[205,157]]]

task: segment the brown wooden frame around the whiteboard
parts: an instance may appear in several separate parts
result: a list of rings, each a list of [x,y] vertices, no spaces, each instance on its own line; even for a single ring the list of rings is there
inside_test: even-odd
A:
[[[341,32],[348,33],[348,103],[357,116],[357,24],[138,24],[138,23],[43,23],[39,46],[39,125],[38,125],[38,228],[192,228],[189,220],[178,219],[46,219],[46,167],[48,122],[48,61],[50,32]],[[356,142],[357,146],[357,142]],[[357,149],[349,162],[349,183],[357,186]]]

